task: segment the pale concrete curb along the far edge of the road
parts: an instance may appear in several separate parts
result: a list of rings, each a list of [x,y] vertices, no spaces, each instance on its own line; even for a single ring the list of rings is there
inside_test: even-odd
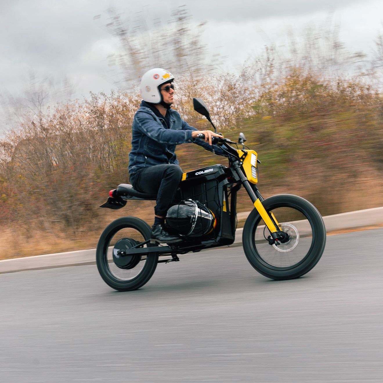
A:
[[[247,218],[250,212],[238,213],[238,219]],[[383,224],[383,207],[350,211],[323,217],[327,232],[363,228]],[[241,246],[242,229],[237,229],[232,246]],[[36,255],[0,261],[0,274],[25,270],[95,264],[96,249],[69,251],[57,254]]]

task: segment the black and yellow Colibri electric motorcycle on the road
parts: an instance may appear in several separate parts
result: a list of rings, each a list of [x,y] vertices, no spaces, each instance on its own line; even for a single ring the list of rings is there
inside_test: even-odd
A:
[[[193,98],[193,105],[216,132],[203,100]],[[111,288],[136,290],[149,281],[158,263],[176,262],[180,254],[233,244],[237,191],[241,187],[254,205],[242,232],[243,250],[257,272],[273,280],[286,280],[301,277],[318,263],[326,245],[326,228],[314,205],[290,194],[264,199],[257,187],[258,154],[244,144],[244,134],[239,134],[238,142],[213,138],[213,143],[225,152],[229,166],[217,164],[183,173],[166,218],[170,231],[179,235],[179,242],[151,241],[151,226],[133,216],[116,219],[102,232],[97,245],[97,268]],[[157,197],[124,183],[109,195],[100,207],[120,209],[128,200]],[[180,211],[183,216],[177,217]]]

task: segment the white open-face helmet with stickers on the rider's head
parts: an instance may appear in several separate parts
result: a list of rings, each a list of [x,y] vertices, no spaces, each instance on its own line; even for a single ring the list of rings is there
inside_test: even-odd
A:
[[[140,93],[142,100],[159,104],[162,101],[159,86],[173,80],[172,74],[165,69],[154,68],[148,70],[141,77]]]

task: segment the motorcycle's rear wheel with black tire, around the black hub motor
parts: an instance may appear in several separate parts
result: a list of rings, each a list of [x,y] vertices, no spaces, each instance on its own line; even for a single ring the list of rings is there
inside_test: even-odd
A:
[[[133,246],[135,243],[150,239],[151,233],[150,226],[136,217],[116,219],[105,228],[98,241],[96,263],[98,272],[107,285],[118,291],[131,291],[137,290],[149,281],[157,267],[158,253],[144,254],[139,260],[130,256],[132,260],[128,267],[121,268],[113,261],[111,246],[124,238],[128,239],[125,243],[129,244],[130,241]],[[156,245],[149,243],[147,246]]]

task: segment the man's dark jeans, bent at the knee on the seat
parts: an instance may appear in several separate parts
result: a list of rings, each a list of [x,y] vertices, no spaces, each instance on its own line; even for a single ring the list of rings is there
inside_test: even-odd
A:
[[[178,165],[154,165],[130,175],[130,183],[141,193],[157,193],[154,214],[166,216],[182,179]]]

